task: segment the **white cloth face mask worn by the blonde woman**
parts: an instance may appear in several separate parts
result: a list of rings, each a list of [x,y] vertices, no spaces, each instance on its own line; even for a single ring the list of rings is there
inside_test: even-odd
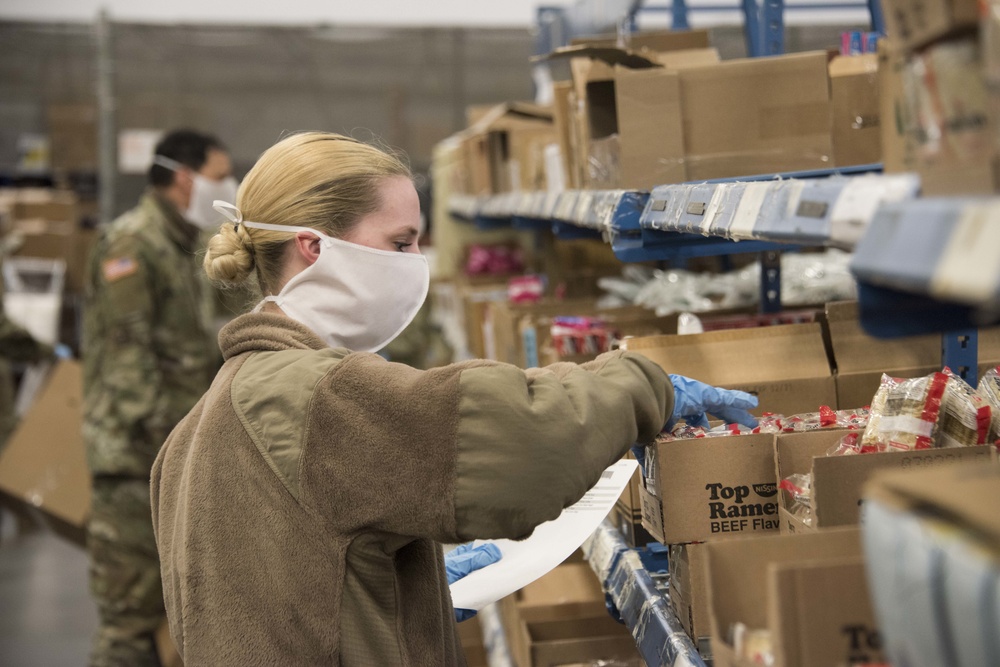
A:
[[[233,219],[234,206],[215,204],[217,211]],[[413,321],[427,298],[430,269],[423,255],[377,250],[310,227],[244,222],[238,211],[235,217],[233,222],[252,229],[309,232],[319,237],[316,261],[292,277],[277,295],[264,297],[254,312],[274,302],[331,347],[381,350]]]

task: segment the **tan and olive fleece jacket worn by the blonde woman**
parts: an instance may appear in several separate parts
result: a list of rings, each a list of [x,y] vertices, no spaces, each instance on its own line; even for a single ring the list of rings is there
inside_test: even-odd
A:
[[[462,664],[439,543],[529,535],[672,410],[632,353],[418,371],[268,314],[219,340],[152,475],[189,667]]]

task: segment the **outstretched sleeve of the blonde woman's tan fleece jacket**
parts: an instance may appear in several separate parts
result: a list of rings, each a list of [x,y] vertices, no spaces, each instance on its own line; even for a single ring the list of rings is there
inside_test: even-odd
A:
[[[630,352],[529,371],[485,361],[417,371],[352,354],[313,402],[303,500],[338,531],[448,542],[523,538],[557,517],[629,446],[656,437],[673,390]]]

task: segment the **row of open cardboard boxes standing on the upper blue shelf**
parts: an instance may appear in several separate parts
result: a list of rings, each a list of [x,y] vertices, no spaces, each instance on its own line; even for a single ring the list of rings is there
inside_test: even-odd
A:
[[[579,40],[542,59],[569,63],[552,106],[474,114],[454,192],[650,189],[881,159],[874,55],[720,61],[694,30]]]

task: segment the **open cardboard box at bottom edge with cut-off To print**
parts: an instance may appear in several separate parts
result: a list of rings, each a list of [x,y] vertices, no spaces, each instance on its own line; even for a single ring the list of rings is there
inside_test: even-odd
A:
[[[727,540],[707,545],[712,652],[744,667],[734,623],[769,630],[776,667],[881,661],[857,529]]]

